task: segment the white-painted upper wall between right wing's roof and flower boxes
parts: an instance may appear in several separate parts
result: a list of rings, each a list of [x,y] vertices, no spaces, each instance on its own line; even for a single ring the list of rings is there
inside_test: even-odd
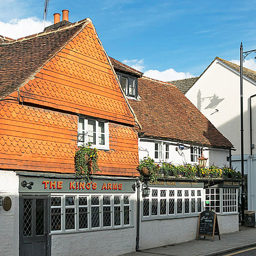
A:
[[[159,161],[159,159],[155,159],[155,142],[159,142],[159,141],[158,140],[146,141],[146,139],[141,139],[141,138],[139,139],[139,159],[140,160],[142,160],[144,157],[147,157],[148,155],[149,157],[153,158],[157,163],[161,163],[163,161],[171,162],[174,164],[198,163],[198,162],[191,162],[190,148],[176,151],[176,147],[178,147],[178,145],[169,145],[169,159],[163,158],[162,161]],[[168,141],[161,141],[161,142],[168,143]],[[190,145],[186,145],[186,146],[190,146]],[[206,158],[208,158],[207,165],[215,164],[215,165],[218,165],[219,167],[223,167],[224,165],[229,165],[229,162],[227,161],[227,157],[229,156],[228,150],[204,147],[203,154]]]

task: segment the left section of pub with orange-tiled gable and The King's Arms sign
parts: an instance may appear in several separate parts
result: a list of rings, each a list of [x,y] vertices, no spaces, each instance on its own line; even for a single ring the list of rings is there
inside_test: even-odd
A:
[[[0,196],[12,201],[0,206],[1,253],[131,252],[140,124],[91,19],[59,16],[44,32],[1,37]],[[98,170],[85,181],[75,154],[88,142]]]

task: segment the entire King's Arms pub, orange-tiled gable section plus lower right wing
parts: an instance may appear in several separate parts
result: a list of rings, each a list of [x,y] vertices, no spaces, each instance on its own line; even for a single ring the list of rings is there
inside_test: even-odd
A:
[[[147,155],[196,163],[202,150],[223,166],[232,144],[176,87],[110,58],[89,18],[62,13],[44,32],[0,37],[1,252],[115,256],[179,243],[212,207],[221,233],[237,231],[237,181],[145,187],[137,170]],[[88,142],[99,168],[90,181],[75,177]]]

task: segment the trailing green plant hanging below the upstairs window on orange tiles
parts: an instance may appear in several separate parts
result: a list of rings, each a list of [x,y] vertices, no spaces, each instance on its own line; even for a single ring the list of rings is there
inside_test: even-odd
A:
[[[91,180],[92,172],[99,170],[98,150],[92,148],[91,144],[83,144],[75,153],[75,176],[80,180]]]

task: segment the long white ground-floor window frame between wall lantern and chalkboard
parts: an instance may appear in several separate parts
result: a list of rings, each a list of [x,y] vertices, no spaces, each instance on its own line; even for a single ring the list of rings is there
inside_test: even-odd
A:
[[[157,197],[152,197],[152,190],[157,189]],[[161,197],[161,190],[166,190],[166,197]],[[169,195],[169,191],[174,190],[174,197]],[[182,196],[178,197],[178,190],[182,191]],[[188,196],[185,197],[185,190],[188,190]],[[195,196],[191,196],[191,190],[195,190]],[[198,190],[201,191],[201,196],[198,196]],[[166,218],[184,218],[189,216],[198,216],[203,210],[203,188],[200,187],[150,187],[150,196],[142,198],[142,220],[154,220],[154,219],[166,219]],[[160,200],[166,198],[166,214],[160,215]],[[189,212],[185,213],[185,198],[189,199]],[[195,198],[195,212],[191,212],[191,199]],[[201,211],[198,211],[198,198],[201,198]],[[143,202],[144,199],[149,199],[149,215],[143,216]],[[152,199],[158,200],[157,215],[152,215]],[[174,199],[174,214],[169,214],[169,199]],[[178,199],[182,199],[182,212],[177,213],[177,202]]]

